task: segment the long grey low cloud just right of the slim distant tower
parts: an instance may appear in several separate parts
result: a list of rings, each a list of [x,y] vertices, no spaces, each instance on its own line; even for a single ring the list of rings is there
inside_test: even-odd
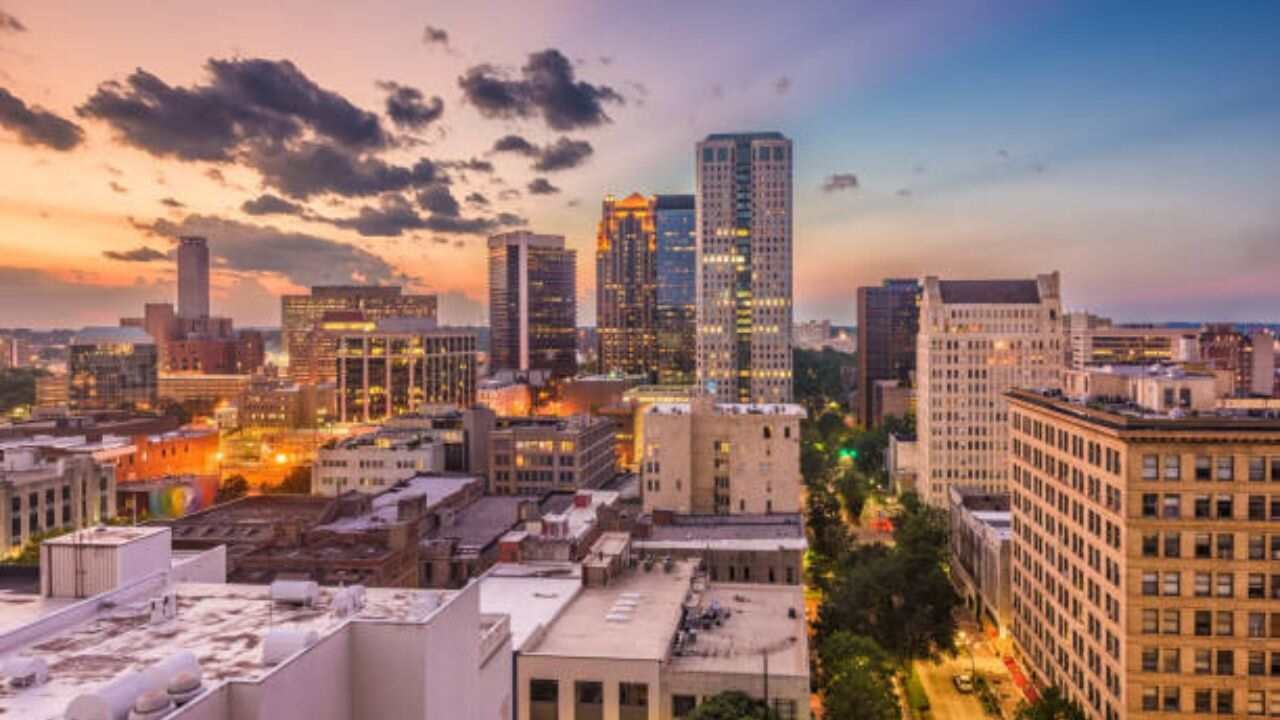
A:
[[[294,284],[389,283],[399,275],[383,258],[346,242],[214,215],[159,219],[140,225],[168,238],[202,236],[218,268],[275,273]]]

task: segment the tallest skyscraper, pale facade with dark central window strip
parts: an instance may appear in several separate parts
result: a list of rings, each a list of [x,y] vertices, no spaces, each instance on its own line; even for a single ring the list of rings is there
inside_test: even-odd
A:
[[[723,402],[791,400],[791,141],[698,143],[698,382]]]

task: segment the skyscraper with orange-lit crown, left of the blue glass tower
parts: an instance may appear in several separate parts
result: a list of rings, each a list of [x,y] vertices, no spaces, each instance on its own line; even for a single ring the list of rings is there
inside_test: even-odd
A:
[[[654,201],[640,193],[604,199],[595,240],[595,313],[600,372],[657,377]]]

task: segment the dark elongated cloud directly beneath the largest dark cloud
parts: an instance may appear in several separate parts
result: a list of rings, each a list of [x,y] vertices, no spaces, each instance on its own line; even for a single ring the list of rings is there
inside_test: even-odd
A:
[[[392,165],[374,156],[361,156],[340,147],[302,143],[296,150],[279,150],[256,159],[262,179],[289,197],[306,199],[332,192],[364,197],[422,187],[444,181],[428,159],[412,168]]]

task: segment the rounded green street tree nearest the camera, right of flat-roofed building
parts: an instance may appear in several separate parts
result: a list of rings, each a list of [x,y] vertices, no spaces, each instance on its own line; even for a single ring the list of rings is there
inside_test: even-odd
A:
[[[893,667],[876,641],[838,632],[818,651],[822,707],[828,717],[899,720]]]

